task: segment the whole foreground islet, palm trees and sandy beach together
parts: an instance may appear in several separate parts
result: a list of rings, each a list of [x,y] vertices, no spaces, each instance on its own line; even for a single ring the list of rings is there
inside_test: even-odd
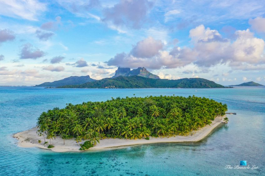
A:
[[[18,146],[58,152],[198,141],[224,121],[226,111],[226,104],[195,96],[118,97],[48,110],[37,127],[13,137]]]

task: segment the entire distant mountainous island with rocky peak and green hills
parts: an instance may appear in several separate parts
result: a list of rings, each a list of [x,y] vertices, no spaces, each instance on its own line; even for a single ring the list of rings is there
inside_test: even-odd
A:
[[[87,76],[71,76],[36,87],[46,88],[227,88],[203,78],[161,79],[144,67],[118,68],[111,78],[95,80]],[[229,87],[230,88],[230,87]]]

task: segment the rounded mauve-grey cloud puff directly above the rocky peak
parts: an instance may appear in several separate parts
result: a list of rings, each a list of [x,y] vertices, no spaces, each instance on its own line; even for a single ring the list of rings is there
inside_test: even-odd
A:
[[[163,48],[161,40],[155,40],[153,37],[148,37],[139,41],[131,50],[134,57],[151,58],[159,54],[159,50]]]

